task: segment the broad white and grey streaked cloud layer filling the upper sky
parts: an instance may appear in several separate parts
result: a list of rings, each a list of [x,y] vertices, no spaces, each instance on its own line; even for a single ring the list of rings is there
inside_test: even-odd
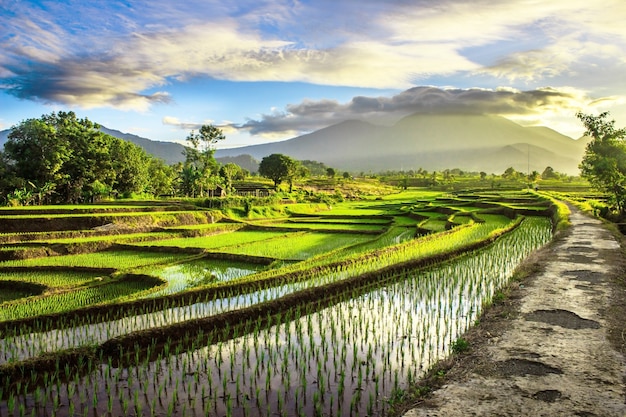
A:
[[[626,93],[612,81],[626,67],[622,0],[139,1],[82,5],[80,23],[49,7],[9,19],[0,38],[0,87],[21,98],[146,111],[194,77],[405,89],[478,75]]]

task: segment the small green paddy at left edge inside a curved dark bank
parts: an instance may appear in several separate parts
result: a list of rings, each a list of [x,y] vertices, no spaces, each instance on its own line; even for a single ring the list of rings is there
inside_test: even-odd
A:
[[[0,270],[0,281],[21,281],[45,285],[50,288],[73,288],[102,279],[96,271],[38,271],[10,269]]]

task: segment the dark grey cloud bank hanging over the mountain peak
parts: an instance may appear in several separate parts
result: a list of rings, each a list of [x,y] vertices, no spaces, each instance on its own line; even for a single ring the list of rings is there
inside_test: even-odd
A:
[[[556,108],[578,109],[582,104],[579,96],[551,88],[516,91],[415,87],[392,97],[357,96],[345,104],[306,100],[287,106],[284,112],[263,115],[235,127],[253,135],[305,133],[351,119],[397,120],[414,113],[530,116]]]

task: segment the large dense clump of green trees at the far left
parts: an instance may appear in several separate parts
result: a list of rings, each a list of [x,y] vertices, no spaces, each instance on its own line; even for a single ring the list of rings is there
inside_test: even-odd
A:
[[[28,187],[46,202],[72,203],[144,192],[153,158],[99,128],[74,112],[53,112],[14,126],[2,158],[3,193]]]

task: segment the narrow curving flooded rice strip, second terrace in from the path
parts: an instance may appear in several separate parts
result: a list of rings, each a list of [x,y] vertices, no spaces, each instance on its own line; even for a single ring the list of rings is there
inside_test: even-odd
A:
[[[407,259],[411,259],[411,257],[414,256],[419,257],[441,253],[445,250],[454,250],[457,247],[462,246],[462,244],[466,241],[471,242],[476,239],[484,239],[486,235],[492,233],[493,231],[500,230],[501,226],[503,226],[502,223],[498,223],[491,224],[491,227],[488,227],[489,224],[491,223],[480,225],[480,227],[476,226],[475,229],[460,229],[459,231],[463,232],[462,236],[457,236],[456,233],[451,233],[446,236],[440,236],[439,238],[437,238],[435,235],[427,239],[419,239],[417,240],[419,242],[419,245],[408,245],[409,248],[413,247],[413,250],[404,253],[404,255],[402,253],[398,254],[396,252],[382,252],[379,253],[377,256],[369,256],[366,260],[363,260],[361,258],[355,258],[356,260],[353,263],[348,263],[335,268],[320,268],[315,275],[311,276],[307,280],[293,281],[284,285],[261,289],[251,294],[241,295],[237,292],[236,289],[232,289],[229,292],[229,295],[226,295],[224,298],[221,299],[208,300],[205,298],[204,300],[197,300],[196,303],[191,305],[176,305],[172,306],[171,308],[166,308],[163,311],[156,312],[150,312],[148,310],[141,309],[140,311],[134,312],[132,316],[125,319],[108,321],[106,323],[87,326],[88,328],[93,330],[87,332],[84,336],[81,336],[83,335],[83,328],[85,324],[95,322],[94,319],[86,316],[84,317],[84,322],[82,323],[75,323],[69,326],[61,326],[64,328],[68,327],[64,330],[49,331],[50,329],[39,329],[42,334],[37,337],[42,340],[42,342],[32,343],[31,346],[45,346],[46,344],[48,344],[52,348],[54,348],[55,346],[59,346],[59,343],[53,343],[51,342],[51,340],[61,340],[62,346],[64,348],[76,347],[84,344],[92,344],[94,342],[102,343],[103,341],[108,340],[111,337],[127,334],[131,332],[132,329],[147,329],[192,318],[208,317],[210,315],[219,314],[224,311],[247,307],[255,303],[274,300],[280,296],[295,291],[326,285],[337,280],[372,272],[374,270],[381,269],[394,263],[405,262]],[[415,248],[419,249],[419,253],[415,253]],[[409,257],[407,257],[407,255]],[[286,268],[288,269],[289,267]],[[257,275],[263,275],[272,272],[273,271],[266,271]],[[73,329],[74,327],[76,327],[77,329]],[[28,334],[30,333],[30,331],[28,329],[24,329],[24,331],[20,329],[20,331],[18,332],[18,337],[10,340],[7,339],[7,343],[10,346],[23,345],[22,337],[24,336],[24,333]],[[49,335],[48,333],[50,333],[51,335]],[[75,344],[67,345],[67,342],[65,342],[67,340],[72,340]],[[26,357],[32,357],[34,355],[37,355],[40,352],[38,349],[24,352],[23,349],[19,348],[9,348],[7,349],[7,351],[16,352],[16,355],[11,356],[9,360],[22,360]]]

